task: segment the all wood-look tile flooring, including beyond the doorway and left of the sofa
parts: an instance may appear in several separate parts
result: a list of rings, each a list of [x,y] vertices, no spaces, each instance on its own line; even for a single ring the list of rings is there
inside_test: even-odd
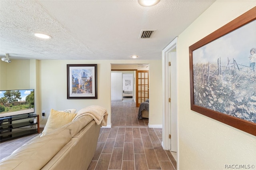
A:
[[[100,129],[88,170],[176,170],[176,160],[161,146],[162,128],[148,128],[148,119],[138,120],[134,102],[111,101],[111,109],[112,128]],[[0,160],[36,135],[1,142]]]

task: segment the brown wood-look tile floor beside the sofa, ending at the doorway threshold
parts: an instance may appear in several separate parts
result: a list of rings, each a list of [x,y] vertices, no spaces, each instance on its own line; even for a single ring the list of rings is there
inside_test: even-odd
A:
[[[101,128],[88,170],[175,170],[176,161],[161,139],[162,128]]]

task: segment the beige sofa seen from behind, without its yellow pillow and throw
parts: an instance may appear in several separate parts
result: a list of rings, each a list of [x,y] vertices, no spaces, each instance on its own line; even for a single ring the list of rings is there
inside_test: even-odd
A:
[[[81,115],[33,138],[2,160],[0,169],[86,170],[96,150],[100,127],[90,115]]]

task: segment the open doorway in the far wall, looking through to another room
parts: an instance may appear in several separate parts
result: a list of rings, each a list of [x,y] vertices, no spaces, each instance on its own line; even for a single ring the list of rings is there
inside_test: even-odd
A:
[[[136,105],[138,96],[141,101],[141,93],[143,97],[145,93],[145,85],[143,91],[142,85],[138,86],[138,70],[145,69],[149,69],[149,64],[111,64],[112,127],[148,126],[148,119],[138,119],[139,107]]]

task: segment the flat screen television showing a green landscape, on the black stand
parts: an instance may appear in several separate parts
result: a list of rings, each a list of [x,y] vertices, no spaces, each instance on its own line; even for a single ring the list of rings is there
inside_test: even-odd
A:
[[[34,89],[0,90],[0,117],[34,113]]]

